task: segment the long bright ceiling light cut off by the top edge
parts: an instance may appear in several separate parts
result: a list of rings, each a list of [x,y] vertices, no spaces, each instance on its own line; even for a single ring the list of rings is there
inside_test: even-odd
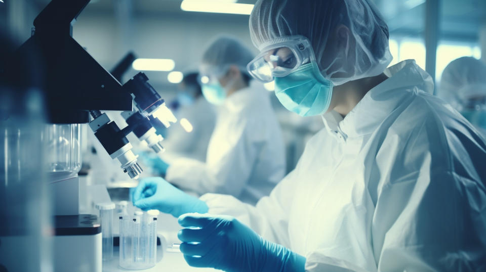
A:
[[[181,3],[181,10],[250,15],[252,13],[253,6],[255,5],[231,3],[230,1],[184,0]]]

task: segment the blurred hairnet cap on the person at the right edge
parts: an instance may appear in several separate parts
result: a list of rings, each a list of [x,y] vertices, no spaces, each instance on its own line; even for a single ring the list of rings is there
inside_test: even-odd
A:
[[[437,93],[454,107],[471,97],[486,96],[486,64],[472,57],[453,60],[442,72]]]

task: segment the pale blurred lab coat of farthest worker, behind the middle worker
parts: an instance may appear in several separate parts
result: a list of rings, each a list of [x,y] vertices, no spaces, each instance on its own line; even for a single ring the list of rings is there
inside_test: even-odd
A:
[[[166,149],[161,157],[169,164],[174,157],[186,157],[199,161],[206,160],[209,140],[216,124],[216,109],[203,96],[195,99],[192,105],[181,105],[175,113],[179,122],[172,124],[163,142]],[[180,124],[186,118],[192,125],[187,132]]]

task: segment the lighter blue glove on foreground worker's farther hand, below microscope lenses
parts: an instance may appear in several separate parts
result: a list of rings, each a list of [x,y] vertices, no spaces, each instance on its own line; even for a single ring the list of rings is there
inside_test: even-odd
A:
[[[206,202],[182,192],[161,177],[142,178],[132,201],[144,211],[159,210],[174,217],[188,212],[208,212]]]

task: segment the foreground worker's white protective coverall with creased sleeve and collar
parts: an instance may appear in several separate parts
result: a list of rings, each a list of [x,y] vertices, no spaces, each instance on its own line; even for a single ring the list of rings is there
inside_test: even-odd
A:
[[[484,139],[415,61],[385,73],[344,120],[323,116],[269,197],[207,194],[209,212],[305,256],[307,271],[484,271]]]

